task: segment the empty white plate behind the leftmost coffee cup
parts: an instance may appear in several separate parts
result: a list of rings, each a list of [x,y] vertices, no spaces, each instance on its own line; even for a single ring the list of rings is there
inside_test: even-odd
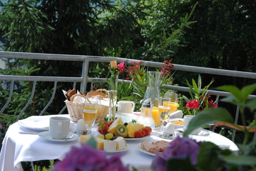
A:
[[[49,118],[39,118],[36,116],[18,120],[18,124],[28,129],[36,129],[41,131],[49,130]]]

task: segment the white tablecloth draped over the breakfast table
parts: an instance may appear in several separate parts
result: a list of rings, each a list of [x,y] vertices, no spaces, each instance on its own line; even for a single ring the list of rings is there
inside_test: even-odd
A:
[[[36,126],[42,124],[41,130],[31,129],[27,127],[26,123],[17,122],[10,125],[7,130],[3,145],[0,153],[0,171],[22,171],[21,162],[25,161],[39,161],[39,160],[62,160],[65,154],[70,151],[72,146],[80,146],[80,137],[74,136],[74,139],[68,141],[49,141],[47,139],[38,136],[39,132],[47,129],[47,121],[49,118],[55,115],[49,116],[31,116],[30,123],[33,125],[32,121],[34,119],[44,120],[40,123],[38,122]],[[69,117],[69,115],[61,115],[63,117]],[[32,120],[31,120],[32,119]],[[29,119],[28,119],[29,120]],[[27,122],[28,124],[29,122]],[[43,125],[46,124],[46,125]],[[46,126],[46,128],[45,128]],[[74,132],[76,129],[76,123],[71,122],[70,132]],[[175,135],[180,135],[180,133],[175,132]],[[97,136],[99,133],[97,131],[97,124],[94,124],[92,128],[92,135]],[[171,141],[162,139],[159,132],[154,131],[147,137],[141,139],[126,139],[127,149],[122,151],[123,155],[121,160],[124,165],[129,165],[130,168],[133,166],[140,171],[150,170],[150,164],[154,159],[154,155],[147,152],[143,152],[140,149],[140,143],[142,141]],[[181,135],[182,136],[182,135]],[[197,141],[210,141],[221,148],[229,148],[232,151],[238,151],[236,144],[224,136],[217,133],[203,129],[198,135],[189,135],[192,139]],[[111,156],[116,152],[107,152],[108,156]],[[131,168],[132,170],[132,168]]]

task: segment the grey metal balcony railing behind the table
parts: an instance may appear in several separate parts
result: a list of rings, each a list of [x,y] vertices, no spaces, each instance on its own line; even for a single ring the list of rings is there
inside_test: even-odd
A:
[[[132,63],[132,62],[139,62],[141,60],[134,60],[134,59],[124,59],[124,58],[114,58],[114,57],[104,57],[104,56],[86,56],[86,55],[63,55],[63,54],[42,54],[42,53],[21,53],[21,52],[0,52],[0,58],[9,58],[9,59],[30,59],[30,60],[59,60],[59,61],[81,61],[83,63],[82,69],[81,69],[81,77],[54,77],[54,76],[12,76],[12,75],[0,75],[0,81],[9,81],[10,84],[10,94],[8,100],[5,102],[4,106],[0,110],[0,115],[3,113],[7,105],[10,103],[13,93],[13,86],[14,82],[17,81],[27,81],[27,82],[33,82],[33,87],[31,89],[31,95],[30,99],[28,99],[28,102],[26,103],[25,107],[22,109],[22,111],[19,113],[19,116],[17,119],[20,118],[22,113],[27,109],[28,105],[33,99],[33,96],[35,95],[35,87],[37,82],[52,82],[54,83],[53,86],[53,92],[51,99],[45,105],[44,109],[41,111],[40,115],[43,115],[43,113],[46,111],[47,108],[51,105],[55,92],[57,89],[57,85],[59,82],[69,82],[73,83],[73,87],[75,87],[77,84],[80,84],[80,91],[84,93],[84,90],[86,89],[87,83],[91,83],[92,85],[94,83],[107,82],[106,78],[89,78],[88,77],[88,70],[89,70],[89,64],[91,62],[110,62],[111,60],[116,60],[119,62],[125,62],[125,63]],[[152,68],[161,68],[163,63],[161,62],[151,62],[151,61],[142,61],[142,65],[146,67],[152,67]],[[256,73],[254,72],[242,72],[242,71],[233,71],[233,70],[223,70],[223,69],[213,69],[213,68],[204,68],[204,67],[194,67],[194,66],[185,66],[180,64],[174,64],[173,70],[178,71],[188,71],[188,72],[196,72],[198,74],[211,74],[211,75],[221,75],[221,76],[229,76],[229,77],[242,77],[242,78],[250,78],[250,79],[256,79]],[[121,81],[121,80],[119,80]],[[92,86],[91,86],[92,87]],[[188,87],[181,87],[181,86],[174,86],[174,85],[166,85],[164,86],[166,89],[172,89],[174,91],[178,92],[188,92]],[[222,91],[214,91],[209,89],[209,94],[215,95],[215,96],[228,96],[230,95],[227,92]],[[255,95],[250,95],[250,97],[256,97]],[[62,114],[63,111],[65,111],[66,106],[63,107],[63,109],[59,112],[59,114]],[[235,123],[237,124],[238,121],[238,115],[239,115],[239,108],[237,107],[236,110],[236,117],[235,117]],[[235,130],[233,131],[233,137],[232,140],[235,139]],[[256,139],[256,134],[254,134],[254,140]]]

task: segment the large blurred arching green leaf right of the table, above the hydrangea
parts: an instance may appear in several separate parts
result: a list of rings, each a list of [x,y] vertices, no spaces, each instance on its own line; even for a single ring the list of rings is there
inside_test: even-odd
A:
[[[209,110],[204,110],[199,112],[191,121],[189,122],[188,128],[183,133],[183,136],[188,136],[194,129],[203,127],[207,124],[212,124],[217,121],[225,121],[227,123],[233,124],[234,120],[230,113],[224,108],[214,108]]]

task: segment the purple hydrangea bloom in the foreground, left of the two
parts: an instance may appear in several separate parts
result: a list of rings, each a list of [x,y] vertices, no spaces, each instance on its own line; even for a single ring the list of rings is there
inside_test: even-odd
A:
[[[108,158],[105,151],[82,144],[81,148],[73,146],[65,159],[55,164],[53,171],[129,171],[120,158],[121,154]]]

